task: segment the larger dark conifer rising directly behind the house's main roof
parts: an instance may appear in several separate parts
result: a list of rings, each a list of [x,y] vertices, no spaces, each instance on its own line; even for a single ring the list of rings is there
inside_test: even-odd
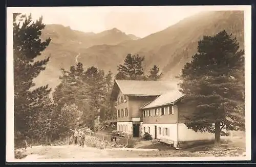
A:
[[[144,71],[142,68],[142,63],[144,57],[140,57],[139,54],[127,54],[123,65],[119,65],[118,74],[116,79],[132,79],[132,80],[144,80]]]

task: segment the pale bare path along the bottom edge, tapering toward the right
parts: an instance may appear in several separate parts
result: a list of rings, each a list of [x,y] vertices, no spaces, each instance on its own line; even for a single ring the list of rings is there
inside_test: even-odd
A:
[[[27,150],[28,156],[24,160],[38,159],[90,159],[90,158],[138,158],[138,157],[191,157],[202,156],[196,153],[179,150],[168,151],[142,151],[134,150],[108,150],[91,147],[68,146],[38,146]],[[206,155],[204,155],[206,156]]]

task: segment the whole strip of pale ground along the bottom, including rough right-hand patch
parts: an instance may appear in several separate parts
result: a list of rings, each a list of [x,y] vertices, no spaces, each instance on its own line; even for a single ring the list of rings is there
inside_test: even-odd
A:
[[[244,141],[244,140],[241,140]],[[243,142],[236,142],[239,144],[236,147],[243,148]],[[242,144],[241,144],[242,143]],[[141,145],[140,145],[141,144]],[[199,156],[225,156],[225,154],[229,154],[226,156],[230,156],[231,154],[237,154],[236,149],[234,149],[234,153],[229,153],[230,150],[228,148],[233,147],[233,144],[229,144],[228,148],[225,148],[224,151],[214,151],[212,153],[211,145],[202,145],[198,147],[193,147],[190,149],[183,150],[175,150],[174,148],[170,148],[168,146],[164,146],[162,144],[152,145],[151,141],[142,141],[138,144],[137,148],[143,149],[159,149],[160,151],[155,150],[144,150],[141,149],[132,149],[132,150],[109,150],[109,149],[97,149],[92,147],[76,147],[74,145],[66,145],[66,146],[37,146],[33,148],[29,148],[26,151],[28,155],[23,160],[31,161],[31,160],[39,160],[39,159],[95,159],[95,158],[140,158],[140,157],[199,157]],[[240,146],[241,145],[241,146]],[[143,146],[143,147],[139,147]],[[225,145],[227,146],[227,145]],[[242,154],[245,150],[239,150],[239,154]],[[224,153],[222,153],[224,152]],[[233,152],[233,151],[231,151]],[[223,155],[222,155],[223,154]]]

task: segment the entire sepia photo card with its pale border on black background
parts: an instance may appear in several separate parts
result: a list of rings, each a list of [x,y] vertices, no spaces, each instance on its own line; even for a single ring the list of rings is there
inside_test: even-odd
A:
[[[251,160],[251,6],[7,8],[7,162]]]

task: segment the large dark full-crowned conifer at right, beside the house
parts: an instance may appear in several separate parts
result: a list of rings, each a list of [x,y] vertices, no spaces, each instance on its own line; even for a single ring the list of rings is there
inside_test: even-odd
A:
[[[220,136],[228,135],[224,129],[245,129],[244,50],[232,34],[204,36],[181,79],[182,101],[195,107],[193,115],[185,117],[189,129],[215,133],[216,147]]]

